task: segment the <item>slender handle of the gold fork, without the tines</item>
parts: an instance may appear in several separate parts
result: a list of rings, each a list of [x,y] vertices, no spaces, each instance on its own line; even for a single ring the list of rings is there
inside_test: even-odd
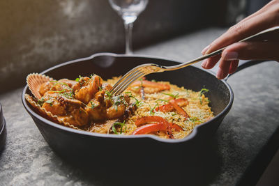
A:
[[[249,36],[248,38],[244,38],[243,40],[240,40],[239,42],[243,42],[243,41],[246,41],[246,40],[266,40],[266,36],[270,36],[270,35],[274,36],[274,34],[277,34],[277,36],[279,36],[279,26],[272,27],[271,29],[266,29],[264,31],[256,33],[255,35]],[[177,69],[180,69],[180,68],[184,68],[188,65],[193,65],[194,63],[197,63],[197,62],[202,61],[204,59],[208,59],[212,56],[222,54],[223,50],[226,49],[227,47],[223,47],[223,48],[218,49],[214,52],[211,52],[210,54],[206,54],[204,56],[199,56],[197,59],[193,59],[193,60],[188,61],[186,63],[181,63],[180,65],[174,65],[174,66],[166,67],[165,70],[177,70]]]

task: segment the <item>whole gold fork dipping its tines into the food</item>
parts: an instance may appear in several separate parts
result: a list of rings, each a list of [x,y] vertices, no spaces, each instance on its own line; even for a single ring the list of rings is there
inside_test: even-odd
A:
[[[274,32],[276,32],[277,37],[278,37],[279,36],[279,33],[277,33],[278,31],[279,31],[279,26],[276,26],[271,29],[266,29],[264,31],[256,33],[255,35],[249,36],[248,38],[240,40],[239,42],[243,42],[246,40],[252,40],[252,39],[255,39],[257,36],[259,36],[259,37],[257,37],[257,40],[259,40],[259,39],[266,40],[266,38],[263,38],[262,36],[266,36],[267,34],[274,33]],[[267,34],[264,34],[264,33],[267,33]],[[143,65],[138,65],[137,67],[135,67],[132,70],[130,70],[129,72],[127,72],[126,75],[121,77],[121,79],[119,79],[119,81],[116,82],[116,84],[114,84],[114,86],[112,87],[112,90],[110,92],[112,93],[112,95],[118,95],[120,93],[123,93],[123,91],[125,91],[126,88],[128,88],[128,86],[131,83],[135,82],[135,80],[140,79],[141,77],[144,77],[145,75],[149,75],[149,74],[155,73],[155,72],[164,72],[164,71],[178,70],[180,68],[184,68],[188,65],[192,65],[192,64],[202,61],[204,59],[208,59],[211,56],[216,56],[218,54],[221,54],[225,48],[226,47],[223,47],[214,52],[211,52],[210,54],[206,54],[204,56],[199,56],[197,59],[193,59],[191,61],[188,61],[186,63],[181,63],[179,65],[163,66],[163,65],[157,65],[154,63],[146,63]]]

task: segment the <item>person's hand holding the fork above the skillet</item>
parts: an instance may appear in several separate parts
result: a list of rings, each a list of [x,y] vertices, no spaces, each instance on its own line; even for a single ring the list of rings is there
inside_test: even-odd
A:
[[[269,40],[238,42],[243,38],[259,33],[279,25],[279,0],[273,0],[256,13],[246,17],[232,26],[222,36],[214,40],[211,45],[202,50],[202,54],[228,46],[223,53],[206,59],[202,67],[213,68],[220,60],[216,77],[224,79],[228,74],[235,72],[239,59],[268,59],[279,61],[279,36]]]

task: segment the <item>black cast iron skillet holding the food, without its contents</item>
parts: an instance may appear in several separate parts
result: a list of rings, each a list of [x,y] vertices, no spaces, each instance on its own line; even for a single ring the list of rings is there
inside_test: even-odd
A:
[[[42,74],[54,79],[75,79],[79,75],[89,76],[92,73],[100,75],[103,79],[124,75],[128,70],[143,63],[157,63],[160,65],[177,65],[177,61],[159,59],[151,56],[119,55],[110,53],[94,54],[84,59],[77,59],[56,65],[42,72]],[[249,63],[250,65],[255,64]],[[246,64],[247,65],[247,64]],[[239,68],[241,69],[241,68]],[[22,102],[29,115],[33,118],[41,134],[59,155],[66,157],[84,158],[103,157],[117,152],[118,155],[146,155],[165,153],[166,151],[181,150],[189,146],[197,146],[213,137],[214,132],[223,121],[223,118],[232,107],[234,95],[232,88],[225,80],[216,79],[213,72],[189,66],[181,70],[155,73],[147,76],[147,79],[168,81],[178,86],[184,86],[193,91],[208,88],[206,96],[211,100],[212,111],[215,115],[210,121],[195,127],[193,132],[184,139],[160,139],[154,135],[130,135],[97,134],[74,130],[53,123],[36,114],[33,108],[24,99],[24,94],[31,95],[28,86],[22,93]],[[194,147],[195,148],[195,147]]]

